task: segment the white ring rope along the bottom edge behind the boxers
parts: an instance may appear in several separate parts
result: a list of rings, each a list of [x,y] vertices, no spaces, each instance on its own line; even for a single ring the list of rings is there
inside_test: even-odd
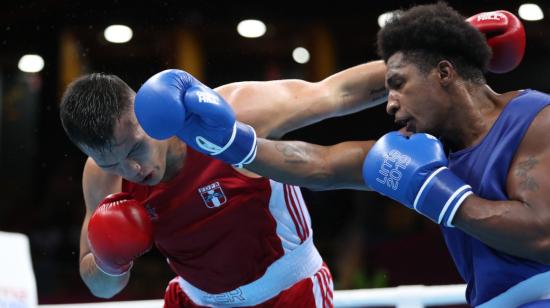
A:
[[[335,307],[394,306],[396,308],[423,308],[431,305],[465,304],[466,286],[410,285],[395,288],[337,290]],[[39,305],[40,308],[162,308],[162,300]]]

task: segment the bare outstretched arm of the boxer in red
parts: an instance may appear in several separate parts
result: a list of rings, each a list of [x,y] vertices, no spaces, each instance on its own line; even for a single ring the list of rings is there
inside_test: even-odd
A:
[[[336,73],[320,82],[275,80],[239,82],[216,90],[237,118],[260,137],[277,138],[323,119],[356,112],[386,93],[385,65],[374,61]],[[383,98],[382,98],[383,99]]]

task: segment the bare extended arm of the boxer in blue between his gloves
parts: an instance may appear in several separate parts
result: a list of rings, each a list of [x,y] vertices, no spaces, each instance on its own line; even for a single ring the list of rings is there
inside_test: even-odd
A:
[[[327,147],[260,138],[256,159],[246,168],[282,183],[313,190],[366,189],[361,175],[366,153],[363,144],[346,142]]]

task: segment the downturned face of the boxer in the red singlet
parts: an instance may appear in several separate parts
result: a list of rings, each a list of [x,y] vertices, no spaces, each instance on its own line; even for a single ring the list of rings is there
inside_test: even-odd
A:
[[[141,185],[158,184],[166,172],[167,142],[149,137],[132,111],[115,124],[114,140],[102,151],[85,145],[80,148],[107,173]]]

